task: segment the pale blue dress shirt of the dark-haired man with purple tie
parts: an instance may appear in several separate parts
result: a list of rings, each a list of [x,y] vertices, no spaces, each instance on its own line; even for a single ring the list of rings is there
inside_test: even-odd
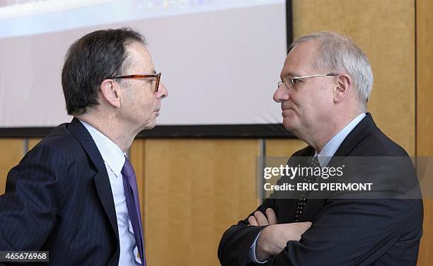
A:
[[[107,168],[108,178],[110,179],[112,197],[115,203],[117,217],[117,229],[119,230],[120,258],[119,265],[141,265],[138,248],[135,243],[134,231],[131,221],[129,221],[128,209],[123,189],[122,168],[125,163],[125,152],[117,146],[111,139],[98,131],[98,129],[80,122],[91,134],[93,141],[102,156],[105,168]]]

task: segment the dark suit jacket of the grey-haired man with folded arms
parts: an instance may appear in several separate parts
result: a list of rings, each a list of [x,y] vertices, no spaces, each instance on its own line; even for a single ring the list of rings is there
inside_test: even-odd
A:
[[[313,154],[314,149],[308,146],[292,158]],[[350,132],[335,156],[408,158],[400,146],[376,127],[370,114]],[[392,167],[408,172],[408,165],[404,166],[406,169],[398,165]],[[412,165],[409,168],[412,174],[405,179],[416,182]],[[292,223],[296,204],[297,199],[270,197],[258,210],[265,214],[265,209],[270,207],[275,210],[279,224]],[[266,265],[416,265],[422,216],[420,198],[308,199],[299,221],[311,221],[311,228],[300,241],[288,241],[286,248]],[[247,219],[239,221],[224,233],[218,249],[221,265],[248,265],[250,262],[250,246],[265,226],[247,224]]]

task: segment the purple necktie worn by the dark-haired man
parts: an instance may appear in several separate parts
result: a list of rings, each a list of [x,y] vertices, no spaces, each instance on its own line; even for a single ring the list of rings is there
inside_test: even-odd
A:
[[[125,164],[122,168],[123,187],[125,188],[125,199],[127,202],[129,219],[131,220],[132,230],[134,230],[135,243],[139,250],[142,265],[146,265],[144,257],[144,241],[142,232],[142,216],[140,214],[140,202],[138,197],[137,178],[135,177],[134,168],[125,156]]]

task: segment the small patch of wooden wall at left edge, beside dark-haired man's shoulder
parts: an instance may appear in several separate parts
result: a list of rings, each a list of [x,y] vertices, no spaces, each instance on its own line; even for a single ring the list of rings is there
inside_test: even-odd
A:
[[[4,194],[9,170],[23,158],[22,139],[0,139],[0,195]]]

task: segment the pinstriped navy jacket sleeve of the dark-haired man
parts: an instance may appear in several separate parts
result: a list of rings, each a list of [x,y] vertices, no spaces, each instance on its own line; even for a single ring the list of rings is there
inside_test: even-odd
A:
[[[6,180],[0,196],[0,250],[40,250],[64,201],[59,180],[71,163],[50,146],[36,146]]]

